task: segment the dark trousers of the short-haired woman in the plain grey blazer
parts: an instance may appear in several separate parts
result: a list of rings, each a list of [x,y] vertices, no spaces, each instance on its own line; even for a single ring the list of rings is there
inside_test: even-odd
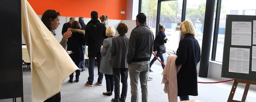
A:
[[[114,84],[115,84],[115,99],[120,98],[120,75],[122,86],[121,98],[126,98],[127,96],[127,78],[128,78],[128,68],[113,68]]]

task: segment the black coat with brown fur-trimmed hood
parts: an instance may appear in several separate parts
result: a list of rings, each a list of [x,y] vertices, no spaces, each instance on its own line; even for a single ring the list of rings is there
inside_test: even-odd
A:
[[[67,29],[67,31],[72,32],[71,37],[67,40],[67,51],[74,52],[69,54],[70,58],[74,62],[84,60],[82,45],[85,45],[85,41],[83,39],[85,31],[80,29],[72,29],[72,28]]]

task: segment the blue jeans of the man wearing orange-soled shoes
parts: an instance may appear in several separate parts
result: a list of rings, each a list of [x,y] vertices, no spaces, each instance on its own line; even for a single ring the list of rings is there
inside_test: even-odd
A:
[[[102,83],[103,74],[99,72],[99,68],[101,67],[101,52],[100,50],[97,51],[97,63],[98,63],[98,82]],[[89,77],[88,77],[88,83],[93,84],[93,78],[94,78],[94,64],[95,64],[95,57],[89,57]]]

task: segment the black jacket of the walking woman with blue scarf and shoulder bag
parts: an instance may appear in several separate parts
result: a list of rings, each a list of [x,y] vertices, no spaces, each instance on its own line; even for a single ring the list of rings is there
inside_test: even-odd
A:
[[[159,50],[159,45],[163,45],[165,43],[166,43],[165,38],[160,33],[158,33],[157,36],[155,37],[155,40],[154,40],[153,51],[158,51]]]

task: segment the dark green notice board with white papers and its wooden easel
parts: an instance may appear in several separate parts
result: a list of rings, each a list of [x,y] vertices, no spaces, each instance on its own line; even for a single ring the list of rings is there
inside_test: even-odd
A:
[[[256,84],[256,16],[227,15],[221,77],[234,78],[229,101],[238,83],[245,83],[242,101],[250,84]]]

